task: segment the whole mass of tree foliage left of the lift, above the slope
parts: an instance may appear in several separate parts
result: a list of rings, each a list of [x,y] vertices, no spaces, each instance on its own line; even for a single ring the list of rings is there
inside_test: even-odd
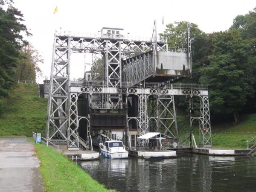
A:
[[[30,36],[23,24],[23,14],[12,0],[0,0],[0,114],[5,108],[8,90],[16,79],[33,79],[40,74],[38,63],[43,62],[23,36]],[[22,35],[23,34],[23,35]]]

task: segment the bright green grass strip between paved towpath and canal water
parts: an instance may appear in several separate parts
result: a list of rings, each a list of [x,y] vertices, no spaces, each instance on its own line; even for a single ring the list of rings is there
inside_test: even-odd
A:
[[[49,192],[108,192],[108,189],[66,157],[44,144],[36,144],[44,190]],[[112,190],[114,191],[114,190]]]

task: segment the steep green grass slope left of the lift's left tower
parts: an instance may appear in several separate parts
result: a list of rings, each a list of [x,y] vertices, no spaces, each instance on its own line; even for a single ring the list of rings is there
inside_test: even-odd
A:
[[[0,136],[32,136],[45,132],[47,99],[38,98],[37,84],[17,84],[10,90],[0,116]]]

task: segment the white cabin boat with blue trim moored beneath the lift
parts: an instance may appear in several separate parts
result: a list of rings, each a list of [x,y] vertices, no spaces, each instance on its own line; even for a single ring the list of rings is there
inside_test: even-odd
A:
[[[125,145],[122,141],[106,141],[104,144],[99,144],[102,157],[111,159],[128,158],[128,151],[125,150]]]

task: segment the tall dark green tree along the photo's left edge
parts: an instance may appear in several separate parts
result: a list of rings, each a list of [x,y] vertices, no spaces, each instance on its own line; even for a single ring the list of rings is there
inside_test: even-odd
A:
[[[20,35],[31,35],[22,24],[23,15],[12,6],[12,0],[0,0],[0,113],[3,112],[3,97],[14,84],[15,68],[20,58],[20,48],[27,44]]]

